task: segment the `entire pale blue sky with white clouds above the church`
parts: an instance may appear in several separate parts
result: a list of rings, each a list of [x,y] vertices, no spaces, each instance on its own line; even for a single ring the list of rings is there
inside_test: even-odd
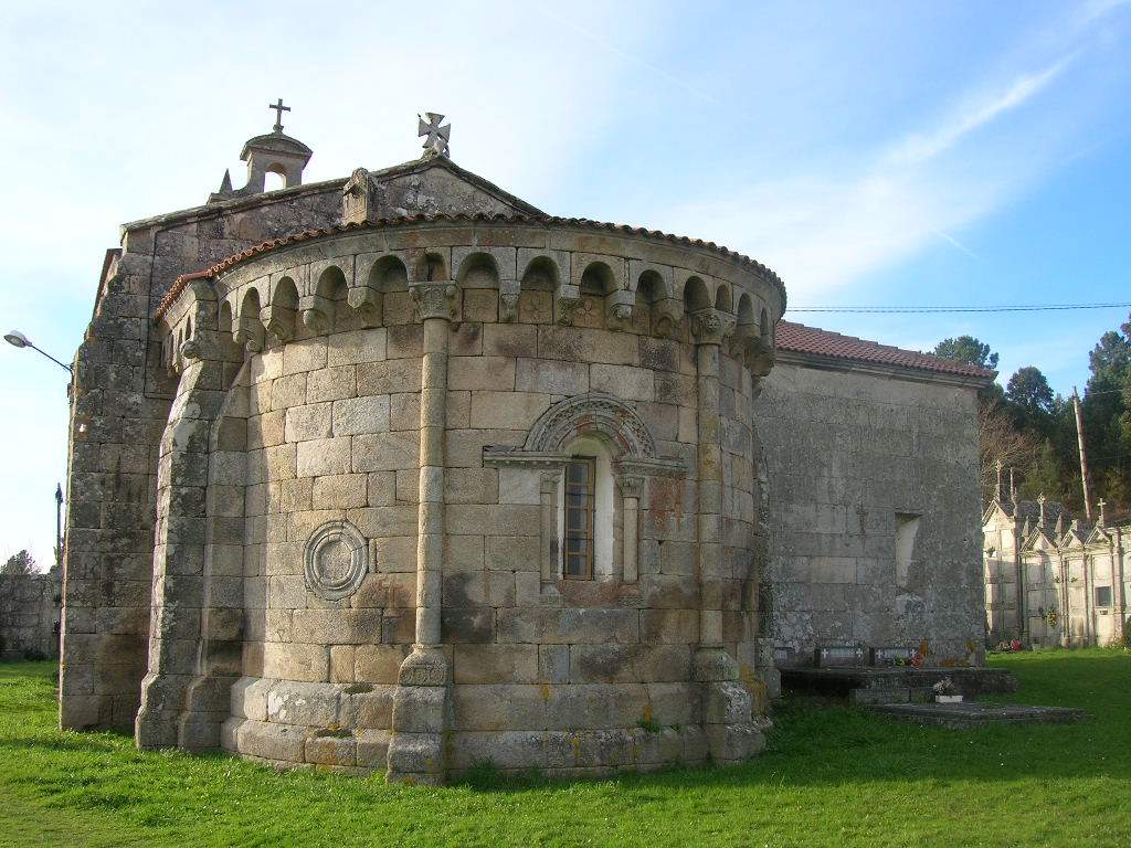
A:
[[[69,358],[118,226],[202,202],[270,129],[309,181],[452,157],[543,209],[710,239],[793,305],[1129,300],[1131,5],[0,2],[0,322]],[[1126,313],[795,314],[970,332],[1068,392]],[[0,348],[0,554],[46,562],[66,374]]]

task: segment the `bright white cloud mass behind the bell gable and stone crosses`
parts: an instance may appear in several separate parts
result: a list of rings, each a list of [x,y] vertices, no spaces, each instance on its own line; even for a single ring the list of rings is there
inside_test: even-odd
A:
[[[308,181],[415,158],[416,113],[438,111],[460,165],[549,205],[614,116],[627,57],[657,37],[632,8],[571,15],[616,33],[620,52],[560,37],[521,2],[6,7],[2,329],[68,360],[119,224],[201,204],[225,167],[241,185],[240,145],[268,131],[277,96],[293,106],[286,131],[314,150]],[[54,371],[0,345],[0,556],[51,559],[68,426]]]

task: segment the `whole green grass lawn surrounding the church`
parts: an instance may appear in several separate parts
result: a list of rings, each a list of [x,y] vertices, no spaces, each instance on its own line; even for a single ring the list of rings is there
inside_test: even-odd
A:
[[[1011,700],[1091,718],[948,732],[786,701],[740,768],[443,789],[60,732],[54,664],[0,665],[0,845],[1131,845],[1131,655],[993,665],[1020,680]]]

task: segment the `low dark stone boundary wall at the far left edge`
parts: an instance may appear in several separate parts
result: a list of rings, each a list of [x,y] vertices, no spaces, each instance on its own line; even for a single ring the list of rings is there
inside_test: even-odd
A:
[[[59,656],[60,572],[0,574],[0,659]]]

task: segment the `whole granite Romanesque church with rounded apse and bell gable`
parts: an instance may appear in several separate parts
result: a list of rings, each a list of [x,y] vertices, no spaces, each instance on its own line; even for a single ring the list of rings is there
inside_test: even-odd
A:
[[[787,282],[713,242],[543,211],[441,115],[318,183],[283,129],[103,260],[63,727],[593,775],[756,755],[822,644],[981,663],[991,372],[784,321]]]

